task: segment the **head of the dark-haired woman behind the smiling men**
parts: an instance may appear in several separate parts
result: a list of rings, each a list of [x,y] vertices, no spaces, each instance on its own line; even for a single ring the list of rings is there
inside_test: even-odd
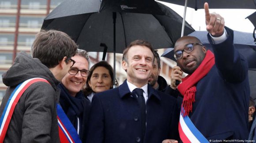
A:
[[[90,101],[95,93],[113,88],[113,68],[106,61],[100,61],[90,68],[84,95]]]

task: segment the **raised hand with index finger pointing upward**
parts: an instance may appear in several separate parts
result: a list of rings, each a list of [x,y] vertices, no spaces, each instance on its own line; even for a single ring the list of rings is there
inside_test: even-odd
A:
[[[224,33],[224,18],[222,18],[219,14],[209,12],[208,3],[204,3],[204,11],[205,11],[205,23],[207,31],[215,37],[222,36]]]

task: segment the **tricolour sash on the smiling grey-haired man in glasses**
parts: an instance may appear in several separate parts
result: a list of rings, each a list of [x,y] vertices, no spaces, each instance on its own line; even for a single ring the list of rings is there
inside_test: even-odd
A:
[[[74,126],[61,108],[60,104],[57,104],[57,114],[60,143],[82,143]]]

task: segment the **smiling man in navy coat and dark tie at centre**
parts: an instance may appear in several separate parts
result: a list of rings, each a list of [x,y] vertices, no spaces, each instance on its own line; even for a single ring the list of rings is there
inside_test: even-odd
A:
[[[161,143],[179,138],[176,99],[147,84],[153,61],[153,48],[146,41],[136,40],[124,50],[127,80],[118,88],[95,94],[87,143]],[[146,102],[144,123],[139,97],[133,92],[136,88],[143,89]]]

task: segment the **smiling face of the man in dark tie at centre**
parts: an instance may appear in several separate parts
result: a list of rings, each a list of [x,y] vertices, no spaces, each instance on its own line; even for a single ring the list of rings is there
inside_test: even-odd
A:
[[[127,62],[122,61],[124,70],[127,71],[127,81],[137,87],[147,84],[153,69],[153,53],[146,46],[132,46],[127,54]]]

